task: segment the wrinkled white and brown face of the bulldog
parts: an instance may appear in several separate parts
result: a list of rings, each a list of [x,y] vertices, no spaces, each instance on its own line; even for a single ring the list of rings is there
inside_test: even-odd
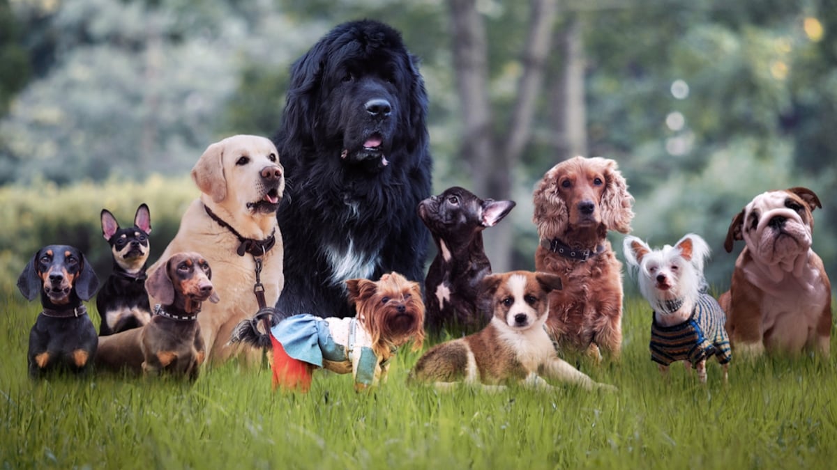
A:
[[[811,248],[814,217],[809,202],[793,192],[764,192],[744,208],[742,238],[767,264],[793,263]]]

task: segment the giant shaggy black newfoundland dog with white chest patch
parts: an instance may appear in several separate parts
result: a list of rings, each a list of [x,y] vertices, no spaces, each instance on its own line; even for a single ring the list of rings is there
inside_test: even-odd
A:
[[[285,166],[282,314],[352,316],[348,278],[422,282],[427,105],[418,60],[383,23],[343,23],[293,64],[274,138]]]

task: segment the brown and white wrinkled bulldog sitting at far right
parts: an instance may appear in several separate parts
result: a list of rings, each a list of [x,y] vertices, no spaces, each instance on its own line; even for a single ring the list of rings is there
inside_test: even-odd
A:
[[[804,187],[763,192],[732,218],[724,248],[747,243],[721,295],[737,353],[764,350],[829,355],[831,284],[811,248],[819,197]]]

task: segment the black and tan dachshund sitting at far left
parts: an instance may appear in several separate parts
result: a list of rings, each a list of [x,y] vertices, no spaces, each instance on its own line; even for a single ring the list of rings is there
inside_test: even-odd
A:
[[[29,332],[29,376],[49,370],[88,370],[98,345],[96,329],[82,300],[89,300],[99,278],[78,248],[49,245],[34,254],[18,278],[28,300],[40,293],[44,310]]]

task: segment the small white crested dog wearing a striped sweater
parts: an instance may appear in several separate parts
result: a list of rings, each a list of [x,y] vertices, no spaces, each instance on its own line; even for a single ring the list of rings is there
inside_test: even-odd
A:
[[[724,323],[727,315],[716,299],[706,294],[703,264],[709,246],[689,233],[674,247],[652,249],[642,240],[624,238],[624,256],[636,274],[639,291],[654,309],[651,324],[651,359],[665,375],[669,365],[685,360],[706,382],[706,359],[715,355],[723,366],[724,381],[732,359]]]

